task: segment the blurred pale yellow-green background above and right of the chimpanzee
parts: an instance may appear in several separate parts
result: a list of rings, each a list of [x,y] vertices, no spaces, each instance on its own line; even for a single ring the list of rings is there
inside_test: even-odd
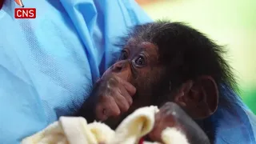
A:
[[[256,0],[138,0],[154,20],[186,22],[218,44],[234,67],[242,100],[256,114]]]

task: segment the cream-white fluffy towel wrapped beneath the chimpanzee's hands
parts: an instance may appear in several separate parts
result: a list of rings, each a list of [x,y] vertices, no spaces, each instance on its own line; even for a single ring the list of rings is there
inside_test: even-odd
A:
[[[61,117],[45,130],[24,138],[22,144],[137,144],[153,129],[154,114],[157,112],[156,106],[142,107],[125,118],[116,130],[101,122],[88,124],[81,117]],[[162,131],[162,141],[165,144],[188,144],[184,134],[170,127]]]

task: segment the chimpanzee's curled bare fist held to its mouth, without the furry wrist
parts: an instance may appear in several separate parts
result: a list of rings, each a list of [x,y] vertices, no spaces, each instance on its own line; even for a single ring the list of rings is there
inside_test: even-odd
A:
[[[129,110],[136,89],[114,74],[103,76],[97,82],[95,116],[99,121],[117,117]]]

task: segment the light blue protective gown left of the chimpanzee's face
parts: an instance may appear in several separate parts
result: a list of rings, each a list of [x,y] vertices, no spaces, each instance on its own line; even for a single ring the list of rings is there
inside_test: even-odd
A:
[[[18,143],[88,97],[117,36],[151,22],[133,0],[26,0],[35,19],[0,10],[0,143]]]

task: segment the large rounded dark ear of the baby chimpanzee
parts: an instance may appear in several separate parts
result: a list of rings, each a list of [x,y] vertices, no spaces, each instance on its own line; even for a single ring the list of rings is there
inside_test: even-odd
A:
[[[192,118],[207,118],[218,108],[218,87],[214,78],[201,76],[183,83],[174,101]]]

